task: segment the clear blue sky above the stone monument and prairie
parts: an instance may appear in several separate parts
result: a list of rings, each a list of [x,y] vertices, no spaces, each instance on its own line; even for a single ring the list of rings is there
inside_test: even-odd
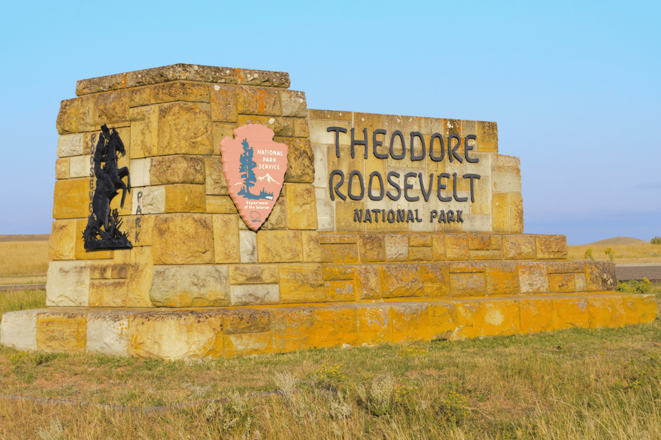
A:
[[[308,108],[496,121],[525,232],[661,236],[661,6],[614,1],[12,2],[0,234],[50,232],[76,80],[174,63],[288,72]]]

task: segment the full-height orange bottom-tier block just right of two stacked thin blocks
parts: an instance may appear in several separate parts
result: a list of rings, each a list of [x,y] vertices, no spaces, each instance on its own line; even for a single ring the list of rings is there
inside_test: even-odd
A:
[[[288,353],[313,346],[315,320],[311,309],[271,310],[273,352]]]

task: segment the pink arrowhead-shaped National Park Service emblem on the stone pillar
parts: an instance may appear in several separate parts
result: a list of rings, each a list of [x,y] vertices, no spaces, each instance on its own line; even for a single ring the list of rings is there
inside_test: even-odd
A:
[[[287,170],[287,146],[273,141],[273,130],[259,124],[234,129],[220,142],[222,171],[229,195],[251,230],[271,214]]]

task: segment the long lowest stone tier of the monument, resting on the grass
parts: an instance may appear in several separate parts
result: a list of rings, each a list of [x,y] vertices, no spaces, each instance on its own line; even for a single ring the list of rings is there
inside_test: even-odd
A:
[[[464,340],[651,322],[653,295],[590,292],[207,309],[52,307],[3,314],[0,343],[23,351],[160,359],[232,358],[312,347]]]

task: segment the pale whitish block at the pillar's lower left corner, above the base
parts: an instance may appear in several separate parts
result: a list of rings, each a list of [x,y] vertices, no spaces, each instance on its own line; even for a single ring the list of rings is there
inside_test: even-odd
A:
[[[51,261],[46,278],[46,305],[87,307],[90,292],[90,263]]]

